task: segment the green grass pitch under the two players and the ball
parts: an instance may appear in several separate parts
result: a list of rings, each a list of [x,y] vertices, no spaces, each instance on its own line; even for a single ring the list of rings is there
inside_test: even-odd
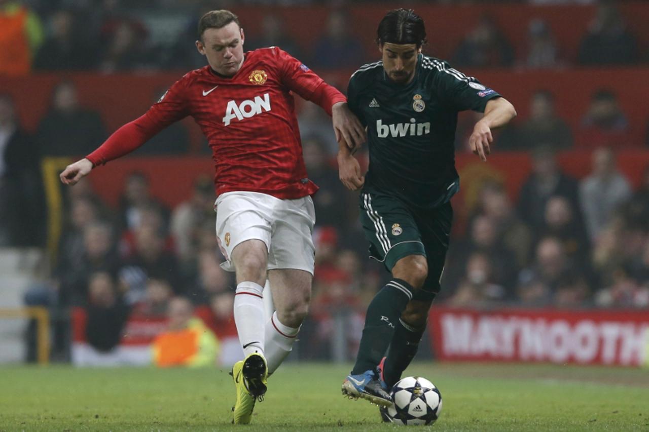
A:
[[[395,431],[343,398],[349,365],[288,363],[250,426],[225,369],[0,368],[0,431]],[[649,370],[415,363],[441,390],[439,431],[649,431]],[[417,427],[415,430],[429,429]]]

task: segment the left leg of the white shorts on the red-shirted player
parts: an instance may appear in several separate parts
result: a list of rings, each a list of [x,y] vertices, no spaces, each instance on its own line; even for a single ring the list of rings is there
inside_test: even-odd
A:
[[[269,250],[273,211],[269,198],[274,197],[253,192],[228,192],[217,198],[214,204],[216,236],[227,259],[221,265],[225,270],[234,271],[232,251],[244,241],[263,241]]]

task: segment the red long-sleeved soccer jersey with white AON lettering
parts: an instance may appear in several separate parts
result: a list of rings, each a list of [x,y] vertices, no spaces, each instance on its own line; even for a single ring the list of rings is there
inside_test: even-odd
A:
[[[234,77],[216,75],[210,66],[187,73],[145,115],[122,126],[87,157],[95,165],[106,163],[191,115],[212,148],[217,195],[230,191],[289,199],[312,195],[317,186],[304,167],[291,91],[317,102],[329,114],[332,104],[346,101],[285,51],[256,49],[245,54]]]

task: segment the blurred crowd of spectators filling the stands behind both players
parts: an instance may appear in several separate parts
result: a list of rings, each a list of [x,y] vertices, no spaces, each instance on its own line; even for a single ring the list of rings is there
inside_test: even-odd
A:
[[[29,49],[25,61],[33,71],[113,73],[204,66],[204,58],[191,49],[193,14],[171,46],[159,49],[147,39],[143,22],[126,14],[119,0],[91,1],[96,8],[80,8],[82,3],[88,2],[0,0],[0,23],[24,12],[22,22],[29,29],[23,45]],[[188,3],[196,10],[205,7],[201,2]],[[247,45],[251,49],[280,45],[310,59],[318,69],[356,67],[365,51],[347,36],[350,27],[348,16],[332,12],[326,34],[313,49],[315,56],[302,52],[284,34],[280,18],[269,15],[262,23],[264,36],[247,40]],[[2,60],[0,54],[0,68]],[[518,58],[494,21],[484,16],[450,60],[458,67],[548,68],[638,64],[646,58],[617,8],[603,3],[589,33],[583,35],[578,58],[563,56],[549,27],[536,19],[529,23],[528,51]],[[472,208],[458,211],[467,218],[453,234],[437,302],[471,307],[502,303],[649,307],[649,167],[637,189],[617,168],[612,148],[645,145],[629,138],[630,125],[617,95],[606,88],[594,91],[581,125],[574,130],[557,114],[550,91],[539,89],[529,103],[527,118],[499,131],[496,149],[530,150],[532,171],[517,191],[517,200],[494,180],[480,187]],[[461,117],[458,152],[469,151],[467,140],[474,122],[472,114]],[[367,259],[358,197],[338,180],[330,119],[319,108],[304,104],[299,123],[306,167],[321,189],[314,197],[313,302],[300,333],[298,355],[347,359],[358,344],[362,313],[389,274],[380,263]],[[45,245],[41,159],[88,154],[108,132],[101,115],[79,103],[71,81],[55,86],[49,109],[32,133],[21,127],[12,98],[0,94],[0,246]],[[153,140],[136,156],[188,152],[188,132],[180,124]],[[584,178],[570,176],[557,163],[557,152],[574,149],[592,152],[590,174]],[[366,166],[367,150],[361,150],[359,157]],[[26,302],[76,311],[73,318],[84,323],[80,339],[91,350],[82,355],[81,363],[101,363],[102,353],[119,357],[115,352],[119,344],[140,338],[151,341],[152,361],[161,366],[202,365],[215,358],[231,364],[240,350],[237,343],[229,343],[236,339],[235,283],[233,274],[219,265],[223,256],[214,235],[212,179],[195,178],[187,200],[175,208],[152,196],[150,181],[143,173],[131,173],[114,207],[101,200],[88,180],[65,188],[55,267],[47,280],[34,284]],[[197,334],[206,336],[194,337]],[[336,337],[341,334],[346,338],[342,347]],[[55,353],[69,348],[57,343]],[[183,353],[172,349],[185,343],[191,346]]]

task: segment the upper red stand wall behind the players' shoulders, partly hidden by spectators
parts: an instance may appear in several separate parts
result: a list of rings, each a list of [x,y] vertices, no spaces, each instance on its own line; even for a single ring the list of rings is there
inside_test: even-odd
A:
[[[346,90],[351,72],[328,72],[323,73],[323,77],[341,90]],[[556,99],[558,114],[572,126],[578,139],[580,121],[589,105],[591,93],[599,88],[610,89],[617,95],[620,107],[628,116],[631,126],[631,142],[621,144],[638,147],[644,143],[646,122],[649,120],[649,67],[560,71],[469,69],[464,72],[475,75],[511,101],[519,113],[517,121],[528,117],[530,97],[534,91],[551,91]],[[3,77],[0,79],[0,92],[13,95],[21,123],[27,130],[33,131],[47,112],[53,86],[63,77],[77,84],[81,104],[100,112],[108,130],[112,132],[142,115],[151,106],[160,89],[173,84],[182,77],[182,72],[151,75],[75,73]],[[203,145],[201,130],[191,119],[185,119],[184,124],[190,128],[192,149],[199,150]],[[47,152],[47,149],[43,150]],[[90,150],[93,149],[89,149],[89,152]]]

